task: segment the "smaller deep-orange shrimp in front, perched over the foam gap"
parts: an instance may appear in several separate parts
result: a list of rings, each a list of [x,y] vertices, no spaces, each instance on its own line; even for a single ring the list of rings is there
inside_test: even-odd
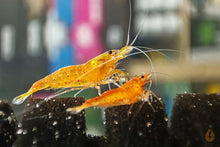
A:
[[[147,82],[151,84],[150,77],[151,73],[135,77],[121,87],[105,91],[102,95],[89,99],[80,106],[68,108],[67,111],[79,113],[83,109],[92,106],[112,107],[136,103],[145,96],[149,97],[150,91],[146,92],[144,88]]]

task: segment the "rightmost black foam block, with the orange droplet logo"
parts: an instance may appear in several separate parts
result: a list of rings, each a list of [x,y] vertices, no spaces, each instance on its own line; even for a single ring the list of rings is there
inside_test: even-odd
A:
[[[177,95],[169,126],[169,146],[220,146],[220,95]]]

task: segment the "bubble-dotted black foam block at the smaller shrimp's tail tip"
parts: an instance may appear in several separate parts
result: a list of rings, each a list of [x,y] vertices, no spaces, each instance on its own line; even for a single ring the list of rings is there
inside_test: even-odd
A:
[[[84,146],[84,111],[77,115],[66,112],[67,108],[83,102],[83,98],[28,99],[14,145]]]

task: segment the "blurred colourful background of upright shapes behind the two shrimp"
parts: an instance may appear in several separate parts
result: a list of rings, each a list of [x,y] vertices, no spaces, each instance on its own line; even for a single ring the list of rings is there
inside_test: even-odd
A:
[[[220,91],[220,0],[131,0],[131,10],[130,40],[141,32],[136,46],[173,50],[149,53],[152,91],[163,97],[168,117],[176,94]],[[128,0],[0,0],[0,99],[11,101],[63,66],[120,49],[129,16]],[[151,72],[143,55],[120,68]],[[87,113],[91,132],[102,134],[101,110]]]

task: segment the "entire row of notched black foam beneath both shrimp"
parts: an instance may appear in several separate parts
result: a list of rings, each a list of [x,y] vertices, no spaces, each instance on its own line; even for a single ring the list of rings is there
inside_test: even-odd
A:
[[[8,103],[0,103],[2,130],[11,135],[1,140],[1,146],[219,146],[220,95],[177,95],[169,126],[165,107],[153,98],[147,102],[110,107],[105,110],[106,134],[102,137],[86,135],[84,111],[74,115],[66,109],[84,102],[83,98],[54,98],[40,104],[40,99],[29,99],[22,122],[17,126]],[[4,104],[2,107],[1,104]],[[38,105],[39,104],[39,105]],[[4,112],[4,113],[3,113]],[[13,119],[9,119],[9,117]],[[12,125],[13,124],[13,125]],[[17,130],[16,130],[17,129]],[[7,134],[7,133],[6,133]]]

